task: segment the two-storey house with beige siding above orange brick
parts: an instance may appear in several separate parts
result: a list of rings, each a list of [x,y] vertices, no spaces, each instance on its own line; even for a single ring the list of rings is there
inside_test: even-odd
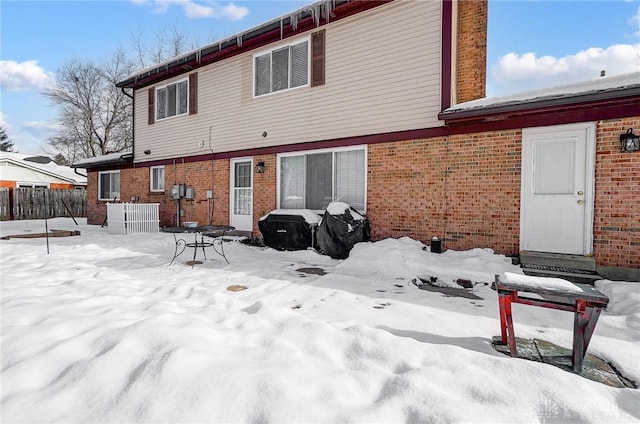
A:
[[[327,0],[137,72],[118,84],[133,91],[133,152],[74,165],[89,171],[89,222],[103,221],[116,180],[123,201],[160,203],[165,225],[180,217],[256,234],[273,209],[340,200],[368,215],[374,240],[438,236],[449,249],[595,257],[599,269],[637,275],[640,153],[616,143],[628,127],[640,132],[638,86],[478,100],[486,29],[486,1]],[[565,124],[576,125],[540,128]],[[544,239],[566,220],[545,210],[536,221],[530,211],[545,205],[521,196],[529,140],[549,131],[550,150],[533,157],[575,154],[572,181],[602,181],[579,190],[582,233],[565,231],[576,240],[558,247]],[[574,141],[558,147],[557,137]],[[551,175],[545,190],[568,190],[553,162],[535,166]],[[174,200],[181,184],[193,198]]]

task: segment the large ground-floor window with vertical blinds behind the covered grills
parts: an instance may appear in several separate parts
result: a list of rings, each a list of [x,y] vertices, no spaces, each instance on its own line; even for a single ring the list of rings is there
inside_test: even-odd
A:
[[[279,159],[280,208],[322,211],[336,201],[365,212],[364,148],[283,155]]]

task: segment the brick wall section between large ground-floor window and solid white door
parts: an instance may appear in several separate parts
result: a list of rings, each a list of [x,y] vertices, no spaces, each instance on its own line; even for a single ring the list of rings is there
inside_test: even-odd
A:
[[[521,131],[369,146],[372,237],[517,254]]]

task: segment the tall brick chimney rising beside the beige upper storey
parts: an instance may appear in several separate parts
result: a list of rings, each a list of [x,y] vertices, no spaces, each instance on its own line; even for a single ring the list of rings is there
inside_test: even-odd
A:
[[[456,103],[485,97],[488,1],[458,2]]]

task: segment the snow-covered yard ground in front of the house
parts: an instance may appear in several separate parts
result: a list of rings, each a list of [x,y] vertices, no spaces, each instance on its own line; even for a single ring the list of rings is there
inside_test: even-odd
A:
[[[489,250],[387,239],[340,261],[230,242],[230,265],[209,252],[168,267],[173,235],[84,222],[49,220],[82,232],[51,238],[50,254],[43,238],[0,241],[2,422],[640,420],[640,390],[491,347],[489,283],[521,271]],[[43,231],[42,220],[0,224],[2,236]],[[481,299],[412,283],[434,276],[478,283]],[[589,352],[640,382],[640,284],[597,287],[611,302]],[[520,337],[571,347],[568,312],[514,305],[514,321]]]

